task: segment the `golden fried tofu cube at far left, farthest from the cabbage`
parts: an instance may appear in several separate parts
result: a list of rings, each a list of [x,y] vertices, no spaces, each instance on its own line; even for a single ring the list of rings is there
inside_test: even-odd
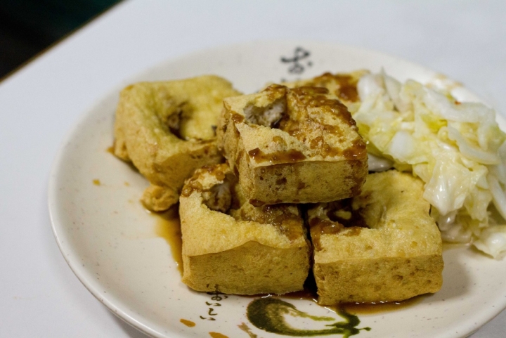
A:
[[[212,75],[141,82],[122,90],[114,152],[150,181],[145,207],[168,209],[195,169],[223,160],[214,130],[223,98],[239,94],[226,79]]]

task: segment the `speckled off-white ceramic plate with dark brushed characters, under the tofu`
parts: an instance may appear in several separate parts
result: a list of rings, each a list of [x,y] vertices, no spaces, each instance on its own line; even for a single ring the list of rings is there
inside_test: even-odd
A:
[[[281,79],[359,68],[377,72],[382,67],[401,81],[441,78],[405,60],[349,46],[257,41],[170,60],[131,78],[131,82],[218,74],[240,91],[252,92]],[[86,112],[70,131],[51,174],[53,231],[70,268],[117,316],[154,337],[278,337],[247,319],[247,306],[253,298],[216,297],[193,292],[181,283],[171,248],[157,235],[157,219],[138,202],[147,182],[106,151],[112,145],[119,89]],[[454,93],[459,100],[478,100],[460,86]],[[504,119],[500,123],[504,130]],[[465,337],[505,308],[504,261],[465,247],[446,250],[444,261],[440,292],[398,311],[359,315],[358,327],[371,330],[361,330],[358,337]],[[312,301],[285,300],[299,311],[335,318],[321,322],[287,316],[294,327],[320,330],[343,320]],[[195,326],[188,327],[181,319]]]

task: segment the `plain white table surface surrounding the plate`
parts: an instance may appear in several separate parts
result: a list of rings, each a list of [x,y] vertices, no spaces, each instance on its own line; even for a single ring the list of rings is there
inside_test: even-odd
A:
[[[60,142],[94,101],[146,67],[285,38],[413,60],[506,113],[506,1],[119,4],[0,83],[0,337],[145,337],[100,304],[58,250],[46,190]],[[505,337],[505,329],[503,311],[472,337]]]

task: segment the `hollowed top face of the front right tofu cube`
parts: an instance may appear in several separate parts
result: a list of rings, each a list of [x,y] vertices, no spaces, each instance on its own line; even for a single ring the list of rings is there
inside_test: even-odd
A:
[[[308,209],[316,251],[343,257],[440,254],[441,234],[422,195],[422,181],[411,174],[368,175],[361,195]]]

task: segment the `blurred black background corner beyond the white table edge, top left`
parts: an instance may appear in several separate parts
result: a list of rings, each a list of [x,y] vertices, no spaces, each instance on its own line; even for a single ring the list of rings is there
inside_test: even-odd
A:
[[[0,0],[0,79],[119,0]]]

